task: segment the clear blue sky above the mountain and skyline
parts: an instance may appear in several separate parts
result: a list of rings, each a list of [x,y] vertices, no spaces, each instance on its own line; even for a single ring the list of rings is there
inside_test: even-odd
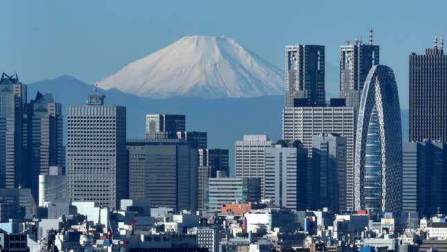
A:
[[[227,35],[283,69],[286,44],[326,45],[338,94],[339,46],[374,28],[380,63],[407,108],[408,55],[446,33],[447,1],[2,1],[0,71],[31,83],[71,74],[94,83],[184,35]]]

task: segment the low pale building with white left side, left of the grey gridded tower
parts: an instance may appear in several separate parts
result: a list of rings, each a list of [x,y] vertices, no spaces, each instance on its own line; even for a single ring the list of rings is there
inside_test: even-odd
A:
[[[45,202],[58,203],[67,200],[67,176],[62,175],[62,167],[49,167],[49,174],[39,175],[39,206]]]

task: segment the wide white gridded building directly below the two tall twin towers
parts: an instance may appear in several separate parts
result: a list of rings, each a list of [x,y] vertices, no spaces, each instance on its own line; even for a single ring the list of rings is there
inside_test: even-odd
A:
[[[314,135],[335,133],[347,140],[347,209],[353,209],[353,148],[354,148],[354,108],[344,106],[331,107],[286,107],[283,110],[283,139],[300,140],[308,149],[308,159],[312,158],[312,140]],[[309,165],[311,167],[312,164]],[[307,181],[313,174],[308,173]],[[308,184],[308,190],[313,185]],[[308,197],[309,205],[313,200]]]

